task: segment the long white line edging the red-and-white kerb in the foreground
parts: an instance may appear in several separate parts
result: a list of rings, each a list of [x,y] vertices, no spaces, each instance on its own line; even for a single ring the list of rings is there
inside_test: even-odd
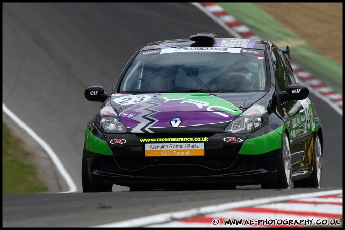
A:
[[[162,214],[157,214],[153,216],[141,217],[141,218],[126,220],[126,221],[121,221],[121,222],[103,224],[103,225],[98,225],[94,227],[144,227],[147,225],[167,223],[170,221],[176,221],[179,219],[185,219],[185,218],[190,218],[190,217],[199,216],[199,215],[231,210],[234,208],[251,207],[255,205],[282,202],[286,200],[295,200],[295,199],[337,195],[337,194],[342,194],[342,189],[303,193],[303,194],[294,194],[294,195],[279,196],[279,197],[261,198],[261,199],[254,199],[254,200],[244,200],[244,201],[231,202],[231,203],[225,203],[225,204],[219,204],[219,205],[211,205],[211,206],[206,206],[206,207],[193,208],[193,209],[185,210],[185,211],[162,213]]]

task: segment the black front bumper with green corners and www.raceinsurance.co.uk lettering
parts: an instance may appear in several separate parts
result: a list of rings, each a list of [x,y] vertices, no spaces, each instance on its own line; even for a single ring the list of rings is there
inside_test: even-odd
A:
[[[229,133],[103,134],[94,127],[90,132],[87,129],[85,145],[89,179],[91,183],[113,183],[124,186],[176,183],[249,185],[274,182],[279,149],[269,151],[265,149],[266,152],[263,152],[260,143],[257,144],[257,148],[255,142],[253,144],[255,137],[266,143],[265,138],[262,140],[262,134],[265,133],[270,133],[267,128],[255,134],[235,135]],[[271,133],[280,135],[275,131]],[[249,139],[251,148],[246,148],[249,152],[243,154],[242,151],[241,154],[246,139]],[[147,144],[187,143],[202,143],[203,154],[160,156],[159,151],[156,151],[154,155],[148,156],[145,150]]]

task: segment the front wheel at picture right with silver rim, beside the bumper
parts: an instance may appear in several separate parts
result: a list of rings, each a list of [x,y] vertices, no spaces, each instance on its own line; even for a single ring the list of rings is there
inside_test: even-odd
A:
[[[282,147],[279,155],[277,178],[274,183],[261,184],[262,189],[291,189],[292,165],[290,143],[287,133],[283,135]]]

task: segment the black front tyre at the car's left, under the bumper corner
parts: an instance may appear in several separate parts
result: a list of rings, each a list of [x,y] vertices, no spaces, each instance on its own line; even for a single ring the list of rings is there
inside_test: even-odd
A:
[[[84,151],[83,151],[83,155],[82,155],[81,181],[82,181],[83,193],[112,192],[113,184],[92,184],[92,183],[90,183],[87,160],[86,160],[85,144],[84,144]]]

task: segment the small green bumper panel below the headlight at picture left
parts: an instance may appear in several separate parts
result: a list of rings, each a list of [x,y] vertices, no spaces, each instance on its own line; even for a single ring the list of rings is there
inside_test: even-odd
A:
[[[85,149],[93,153],[99,153],[110,156],[113,155],[108,143],[93,135],[89,128],[86,129]]]

